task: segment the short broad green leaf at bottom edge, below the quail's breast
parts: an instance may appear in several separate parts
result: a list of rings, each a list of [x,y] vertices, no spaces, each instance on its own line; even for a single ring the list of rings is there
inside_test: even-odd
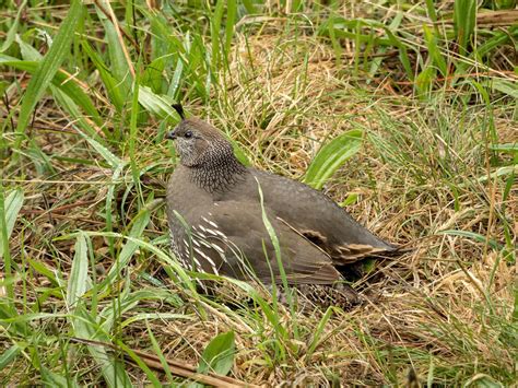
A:
[[[201,355],[198,372],[215,372],[220,375],[228,374],[234,365],[234,355],[236,352],[234,337],[234,331],[224,332],[214,337]]]

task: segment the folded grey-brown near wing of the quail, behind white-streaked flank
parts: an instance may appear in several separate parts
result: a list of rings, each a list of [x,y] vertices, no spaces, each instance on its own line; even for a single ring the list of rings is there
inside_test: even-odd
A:
[[[274,244],[255,201],[222,201],[197,209],[191,223],[193,236],[201,237],[193,255],[219,262],[217,273],[238,279],[257,277],[261,282],[281,283]],[[269,216],[271,213],[266,209]],[[197,221],[196,221],[197,219]],[[282,267],[290,284],[332,284],[340,280],[330,257],[275,216],[269,221],[279,240]],[[252,269],[254,274],[250,273]]]

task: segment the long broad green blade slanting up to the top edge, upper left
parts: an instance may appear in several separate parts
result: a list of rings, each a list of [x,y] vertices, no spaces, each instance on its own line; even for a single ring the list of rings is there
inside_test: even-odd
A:
[[[34,73],[33,78],[28,82],[27,90],[23,96],[22,107],[20,109],[20,116],[16,126],[16,142],[15,149],[20,148],[23,137],[20,136],[25,131],[31,114],[42,98],[45,90],[52,81],[55,74],[58,72],[61,62],[67,58],[72,43],[75,26],[79,22],[83,5],[79,0],[72,0],[70,10],[64,17],[61,26],[59,27],[58,34],[54,38],[54,43],[50,46],[48,52],[44,59],[39,62],[39,66]]]

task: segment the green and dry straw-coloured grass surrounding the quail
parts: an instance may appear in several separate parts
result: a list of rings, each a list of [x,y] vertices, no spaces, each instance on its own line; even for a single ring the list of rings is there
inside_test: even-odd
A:
[[[1,11],[0,384],[516,385],[516,10],[154,3]],[[168,251],[174,102],[415,249],[350,311],[198,293]]]

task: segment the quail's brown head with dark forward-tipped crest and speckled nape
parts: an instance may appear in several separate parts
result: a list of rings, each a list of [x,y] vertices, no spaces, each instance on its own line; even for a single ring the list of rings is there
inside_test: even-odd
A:
[[[185,118],[180,105],[173,107],[180,115],[181,121],[165,138],[175,141],[184,166],[210,166],[234,157],[231,143],[216,128],[197,117]]]

